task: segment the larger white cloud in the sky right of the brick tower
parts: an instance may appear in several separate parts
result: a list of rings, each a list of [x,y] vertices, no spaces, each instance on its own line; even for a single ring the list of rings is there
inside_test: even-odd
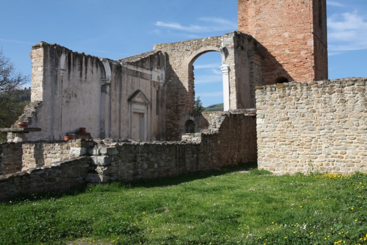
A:
[[[328,18],[328,50],[331,52],[367,49],[367,18],[357,11]]]

